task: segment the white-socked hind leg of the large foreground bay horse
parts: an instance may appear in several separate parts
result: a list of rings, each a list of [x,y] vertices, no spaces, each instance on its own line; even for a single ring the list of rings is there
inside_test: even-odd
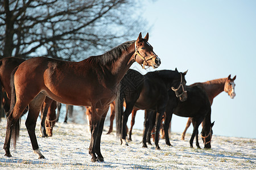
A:
[[[39,116],[40,109],[42,107],[43,101],[46,99],[46,95],[39,94],[36,96],[29,104],[29,111],[27,115],[26,120],[26,128],[28,131],[28,135],[30,137],[30,141],[32,144],[32,149],[35,154],[39,156],[39,159],[44,158],[44,156],[41,154],[38,146],[38,141],[36,140],[35,135],[35,127],[36,127],[36,120]]]

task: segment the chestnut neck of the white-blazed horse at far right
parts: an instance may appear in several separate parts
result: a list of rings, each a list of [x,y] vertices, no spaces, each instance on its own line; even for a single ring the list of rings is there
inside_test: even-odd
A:
[[[210,104],[212,104],[214,97],[216,97],[218,94],[224,91],[225,82],[226,78],[210,80],[208,82],[200,83],[200,85],[203,86],[205,92],[209,97]]]

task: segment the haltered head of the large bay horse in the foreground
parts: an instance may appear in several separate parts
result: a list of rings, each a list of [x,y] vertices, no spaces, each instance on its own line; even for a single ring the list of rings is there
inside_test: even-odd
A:
[[[143,69],[145,69],[145,66],[152,66],[155,69],[160,66],[161,61],[154,53],[153,47],[147,41],[148,33],[144,39],[142,39],[142,35],[139,33],[139,37],[135,41],[134,59]]]

